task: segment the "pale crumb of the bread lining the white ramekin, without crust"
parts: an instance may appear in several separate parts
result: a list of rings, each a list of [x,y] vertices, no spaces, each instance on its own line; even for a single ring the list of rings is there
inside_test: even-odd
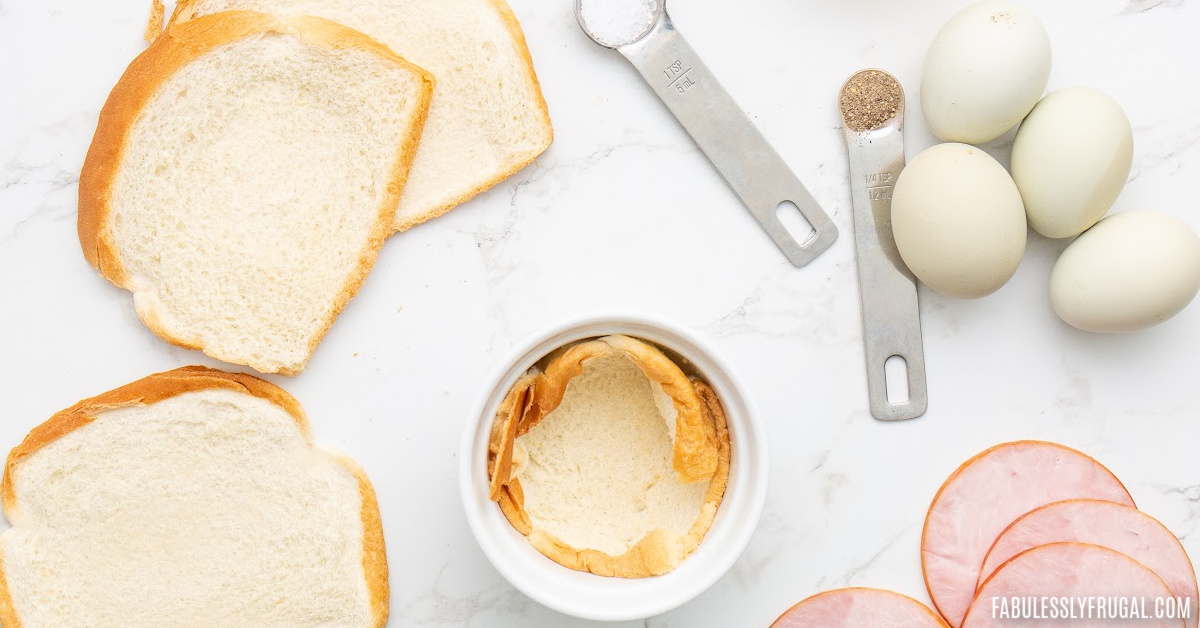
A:
[[[656,402],[665,396],[623,354],[584,363],[562,405],[517,439],[528,456],[518,477],[533,525],[611,556],[648,531],[685,536],[708,483],[676,478],[674,412],[665,417]]]

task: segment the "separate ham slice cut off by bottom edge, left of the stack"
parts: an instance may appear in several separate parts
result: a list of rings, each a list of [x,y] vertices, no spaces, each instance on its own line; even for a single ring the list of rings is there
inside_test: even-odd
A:
[[[946,628],[946,622],[908,596],[839,588],[792,606],[770,628]]]

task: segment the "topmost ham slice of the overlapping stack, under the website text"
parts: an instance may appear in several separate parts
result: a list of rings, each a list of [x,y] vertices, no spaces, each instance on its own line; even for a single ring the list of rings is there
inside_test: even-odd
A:
[[[1157,603],[1170,596],[1160,578],[1118,551],[1054,543],[997,569],[979,588],[962,628],[1182,628],[1181,618],[1156,616]],[[1139,616],[1128,615],[1132,610]]]

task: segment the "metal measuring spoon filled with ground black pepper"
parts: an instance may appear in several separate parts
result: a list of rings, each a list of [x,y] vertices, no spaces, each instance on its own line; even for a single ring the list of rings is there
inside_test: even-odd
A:
[[[892,235],[892,189],[904,169],[904,89],[887,72],[864,70],[846,80],[838,101],[850,156],[871,415],[914,419],[929,405],[917,279]],[[895,357],[907,370],[908,399],[893,402],[886,366]]]

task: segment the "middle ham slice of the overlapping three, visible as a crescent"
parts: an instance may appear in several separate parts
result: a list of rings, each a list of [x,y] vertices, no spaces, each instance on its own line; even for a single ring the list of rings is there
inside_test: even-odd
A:
[[[1008,526],[988,552],[979,585],[1001,564],[1025,550],[1051,543],[1079,542],[1116,550],[1145,564],[1177,598],[1192,600],[1189,628],[1200,623],[1196,572],[1180,539],[1157,519],[1112,502],[1069,500],[1043,506]]]

